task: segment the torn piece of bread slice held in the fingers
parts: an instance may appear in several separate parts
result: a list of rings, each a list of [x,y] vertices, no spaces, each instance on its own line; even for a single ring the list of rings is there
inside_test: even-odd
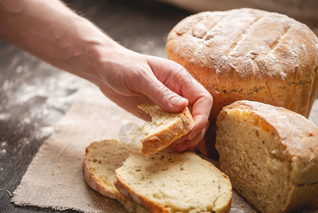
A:
[[[142,142],[140,153],[147,158],[193,129],[193,117],[188,107],[180,113],[164,111],[153,102],[138,107],[152,117],[152,122],[143,126],[145,136],[140,140]]]

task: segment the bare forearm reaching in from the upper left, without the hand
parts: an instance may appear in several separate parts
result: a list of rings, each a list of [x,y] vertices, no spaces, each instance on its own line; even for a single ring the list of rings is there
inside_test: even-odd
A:
[[[58,0],[0,0],[0,35],[52,65],[98,84],[100,49],[119,45]]]

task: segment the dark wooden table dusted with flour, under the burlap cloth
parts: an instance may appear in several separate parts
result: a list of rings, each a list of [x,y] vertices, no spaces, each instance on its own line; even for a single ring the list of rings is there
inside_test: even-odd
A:
[[[189,15],[149,0],[66,3],[127,48],[161,57],[166,35]],[[75,212],[16,207],[10,200],[52,126],[72,104],[76,82],[78,78],[0,40],[0,212]]]

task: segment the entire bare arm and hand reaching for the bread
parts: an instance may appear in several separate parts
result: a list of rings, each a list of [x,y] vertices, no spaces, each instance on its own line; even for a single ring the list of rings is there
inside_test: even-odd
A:
[[[149,99],[166,111],[188,106],[194,127],[175,141],[176,151],[195,148],[208,129],[212,97],[181,65],[123,48],[62,1],[1,2],[0,23],[0,36],[97,84],[113,102],[142,119],[149,116],[137,104]]]

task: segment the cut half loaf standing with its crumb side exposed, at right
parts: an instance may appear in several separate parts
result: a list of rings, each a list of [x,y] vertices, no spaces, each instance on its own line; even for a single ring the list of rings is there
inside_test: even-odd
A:
[[[304,116],[234,102],[217,116],[216,148],[234,190],[260,212],[318,207],[318,129]]]

